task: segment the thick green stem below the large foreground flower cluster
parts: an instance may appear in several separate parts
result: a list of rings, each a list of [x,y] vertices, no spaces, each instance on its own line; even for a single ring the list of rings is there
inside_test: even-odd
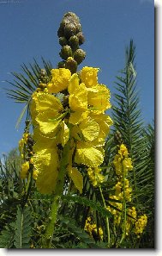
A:
[[[48,222],[47,228],[45,230],[45,242],[44,242],[45,248],[51,248],[51,239],[53,236],[55,223],[57,221],[57,211],[60,204],[60,198],[63,193],[64,178],[66,174],[67,165],[69,163],[69,149],[70,149],[70,140],[63,147],[63,155],[60,162],[60,170],[58,172],[57,184],[55,187],[56,192],[54,194],[53,202],[51,203],[51,213],[49,216],[49,222]]]

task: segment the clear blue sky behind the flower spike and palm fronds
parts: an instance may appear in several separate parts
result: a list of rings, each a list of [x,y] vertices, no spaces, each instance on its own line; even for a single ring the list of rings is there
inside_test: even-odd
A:
[[[144,121],[154,116],[154,3],[152,0],[0,0],[0,154],[17,146],[23,124],[15,123],[22,104],[6,97],[4,80],[21,72],[21,64],[41,64],[40,57],[60,60],[57,28],[63,15],[80,17],[87,52],[83,66],[99,67],[99,83],[114,92],[114,81],[124,66],[124,51],[133,38],[136,47],[137,87]]]

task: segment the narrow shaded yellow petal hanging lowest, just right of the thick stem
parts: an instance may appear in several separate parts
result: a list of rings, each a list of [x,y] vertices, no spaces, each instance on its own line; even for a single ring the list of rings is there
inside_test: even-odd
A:
[[[82,188],[83,188],[83,177],[81,175],[81,172],[78,171],[77,168],[75,167],[71,167],[69,165],[68,167],[68,173],[69,173],[69,177],[72,179],[72,181],[75,184],[76,189],[78,189],[80,191],[80,193],[82,193]]]

